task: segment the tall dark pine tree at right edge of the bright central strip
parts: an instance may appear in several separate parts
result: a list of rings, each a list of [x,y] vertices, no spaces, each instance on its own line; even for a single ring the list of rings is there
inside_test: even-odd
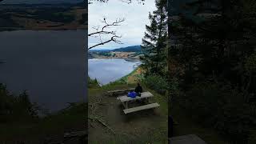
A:
[[[167,9],[166,0],[156,0],[157,10],[149,14],[150,25],[142,38],[141,57],[147,74],[166,74]]]

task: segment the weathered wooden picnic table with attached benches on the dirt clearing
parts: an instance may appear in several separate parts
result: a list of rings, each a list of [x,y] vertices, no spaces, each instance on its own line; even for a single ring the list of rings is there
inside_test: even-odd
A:
[[[146,91],[146,92],[141,93],[141,96],[136,96],[135,98],[130,98],[130,97],[127,97],[127,95],[123,95],[123,96],[118,97],[117,99],[120,102],[122,102],[122,105],[125,107],[123,112],[125,114],[128,114],[128,113],[132,113],[132,112],[135,112],[138,110],[153,109],[155,107],[160,106],[157,102],[150,103],[149,98],[152,98],[152,97],[154,97],[154,95],[151,94],[149,91]],[[136,106],[136,107],[132,107],[132,108],[128,107],[129,102],[132,102],[132,101],[135,101],[138,99],[145,100],[147,102],[146,105]]]

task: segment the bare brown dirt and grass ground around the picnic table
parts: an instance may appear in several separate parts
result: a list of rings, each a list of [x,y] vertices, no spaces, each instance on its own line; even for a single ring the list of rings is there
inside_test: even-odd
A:
[[[90,143],[167,143],[168,106],[164,96],[154,94],[150,102],[160,104],[154,110],[124,114],[122,103],[105,93],[101,88],[89,90]]]

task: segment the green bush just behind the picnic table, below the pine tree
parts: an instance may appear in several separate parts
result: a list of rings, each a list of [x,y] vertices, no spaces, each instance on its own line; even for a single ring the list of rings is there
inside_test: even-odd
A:
[[[155,90],[159,94],[166,94],[168,90],[168,83],[165,78],[162,78],[160,75],[149,75],[142,81],[150,89]]]

